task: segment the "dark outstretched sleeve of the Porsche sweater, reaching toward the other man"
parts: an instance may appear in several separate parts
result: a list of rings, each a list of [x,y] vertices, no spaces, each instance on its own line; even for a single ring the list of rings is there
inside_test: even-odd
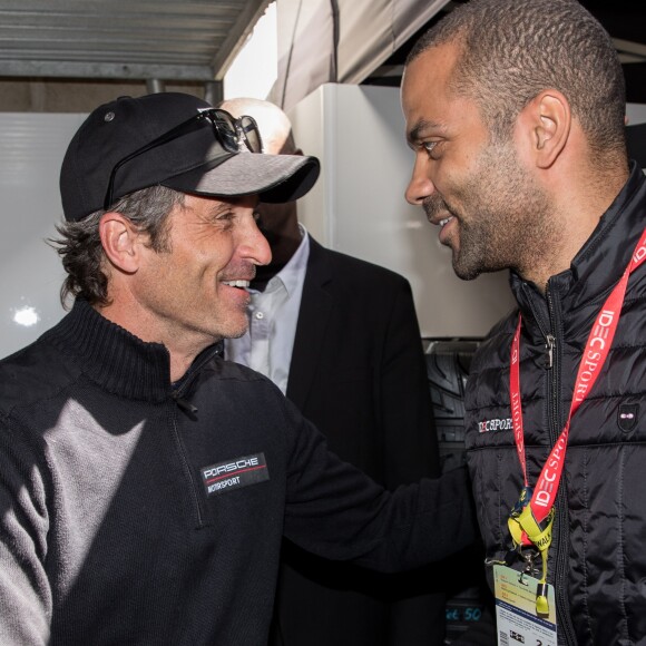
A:
[[[470,545],[474,515],[464,469],[390,492],[327,451],[324,437],[286,402],[292,421],[285,536],[324,558],[395,572]]]

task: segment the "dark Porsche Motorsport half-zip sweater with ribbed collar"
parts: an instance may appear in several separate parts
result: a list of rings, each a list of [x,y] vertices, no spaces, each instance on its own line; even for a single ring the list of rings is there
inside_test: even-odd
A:
[[[390,495],[271,381],[214,346],[173,386],[82,301],[0,362],[0,644],[261,646],[283,532],[415,567],[473,539],[466,473]]]

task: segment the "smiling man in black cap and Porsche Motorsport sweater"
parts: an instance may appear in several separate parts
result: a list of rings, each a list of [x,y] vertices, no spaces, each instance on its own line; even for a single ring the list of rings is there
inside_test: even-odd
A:
[[[0,643],[258,646],[281,538],[397,570],[473,536],[466,474],[388,493],[221,359],[312,157],[187,95],[95,110],[61,170],[69,314],[0,362]]]

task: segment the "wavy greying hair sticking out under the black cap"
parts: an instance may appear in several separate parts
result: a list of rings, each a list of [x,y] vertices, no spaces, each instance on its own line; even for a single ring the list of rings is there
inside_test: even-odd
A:
[[[110,211],[120,213],[147,234],[150,248],[165,253],[170,251],[168,215],[177,205],[184,205],[183,193],[153,186],[121,197]],[[57,225],[60,238],[49,241],[67,272],[60,288],[63,307],[69,296],[79,296],[92,305],[109,303],[108,276],[104,271],[106,255],[99,236],[99,221],[104,213],[102,209],[96,211],[81,221]]]

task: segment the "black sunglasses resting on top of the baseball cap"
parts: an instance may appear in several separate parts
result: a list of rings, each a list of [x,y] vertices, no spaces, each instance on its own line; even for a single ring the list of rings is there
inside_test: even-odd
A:
[[[221,110],[219,108],[200,110],[197,115],[190,117],[190,119],[175,126],[167,133],[164,133],[160,137],[153,139],[145,146],[141,146],[141,148],[137,148],[137,150],[130,153],[115,164],[112,172],[110,173],[110,180],[108,182],[108,189],[106,190],[106,197],[104,199],[104,211],[108,211],[112,204],[115,178],[117,176],[117,170],[119,170],[124,164],[127,164],[144,153],[153,150],[153,148],[164,146],[164,144],[168,144],[178,137],[188,135],[193,130],[200,128],[205,120],[211,121],[214,135],[227,153],[241,153],[244,147],[246,147],[249,153],[263,151],[263,140],[261,139],[258,125],[253,117],[245,115],[239,119],[236,119],[233,115],[226,110]]]

